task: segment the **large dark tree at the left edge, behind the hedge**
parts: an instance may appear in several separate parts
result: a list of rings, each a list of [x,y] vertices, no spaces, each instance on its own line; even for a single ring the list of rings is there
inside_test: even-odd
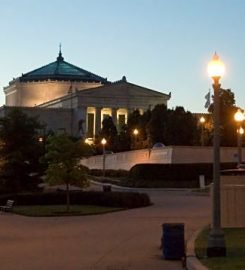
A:
[[[37,188],[43,154],[38,131],[42,128],[36,117],[28,117],[17,108],[0,119],[0,177],[5,191]]]

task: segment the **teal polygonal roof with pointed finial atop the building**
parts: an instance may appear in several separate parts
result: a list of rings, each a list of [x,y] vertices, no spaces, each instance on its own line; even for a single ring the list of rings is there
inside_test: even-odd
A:
[[[87,70],[74,66],[66,61],[62,56],[61,50],[55,62],[35,69],[31,72],[22,74],[20,81],[44,81],[44,80],[65,80],[65,81],[84,81],[108,83],[106,78],[100,77]]]

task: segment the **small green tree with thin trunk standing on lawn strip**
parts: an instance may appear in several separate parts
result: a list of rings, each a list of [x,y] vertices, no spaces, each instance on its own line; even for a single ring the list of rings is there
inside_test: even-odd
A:
[[[50,136],[46,148],[48,169],[45,179],[50,185],[65,184],[66,210],[70,211],[70,185],[88,185],[85,168],[79,164],[79,160],[89,154],[89,146],[82,141],[73,141],[66,134],[60,134]]]

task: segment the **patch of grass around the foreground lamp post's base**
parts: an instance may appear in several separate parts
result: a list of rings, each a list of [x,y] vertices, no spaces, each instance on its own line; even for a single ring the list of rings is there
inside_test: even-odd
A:
[[[200,261],[210,270],[244,270],[245,269],[245,228],[224,229],[227,256],[207,258],[208,229],[196,239],[196,254]]]

